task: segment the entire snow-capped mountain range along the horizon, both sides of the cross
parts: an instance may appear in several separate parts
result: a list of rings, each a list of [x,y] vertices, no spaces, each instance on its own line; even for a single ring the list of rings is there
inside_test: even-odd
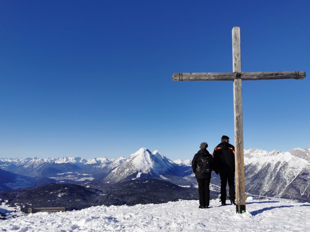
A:
[[[310,200],[310,147],[288,152],[250,149],[244,151],[246,191],[254,195]],[[140,148],[127,159],[108,160],[80,157],[0,159],[0,168],[11,172],[7,182],[0,182],[0,191],[19,188],[17,180],[28,186],[40,183],[117,183],[130,180],[158,179],[178,186],[194,187],[191,161],[172,161],[159,151]],[[17,174],[17,175],[16,175]],[[22,175],[22,177],[20,176]],[[26,183],[26,182],[25,182]],[[219,190],[220,179],[212,174],[211,189]]]

